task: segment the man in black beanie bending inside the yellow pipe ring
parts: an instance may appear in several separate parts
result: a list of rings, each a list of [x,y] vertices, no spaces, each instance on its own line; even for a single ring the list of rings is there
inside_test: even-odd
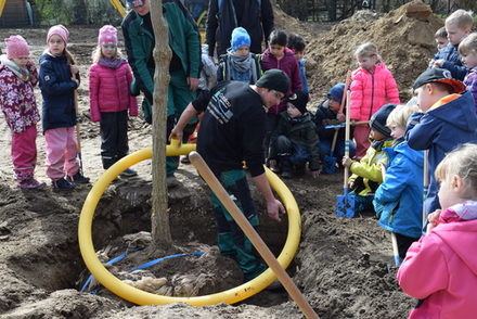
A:
[[[285,212],[267,181],[263,138],[266,109],[279,104],[287,90],[288,77],[279,69],[266,72],[253,86],[240,81],[221,82],[188,105],[169,137],[181,141],[189,120],[205,111],[197,137],[197,152],[254,227],[258,226],[258,217],[243,161],[267,201],[269,217],[280,221],[279,213]],[[254,254],[252,243],[214,194],[212,205],[220,253],[237,261],[245,281],[259,276],[266,266]]]

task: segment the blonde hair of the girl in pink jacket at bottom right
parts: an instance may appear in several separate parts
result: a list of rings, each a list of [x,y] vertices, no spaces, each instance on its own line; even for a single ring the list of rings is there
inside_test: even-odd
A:
[[[437,165],[435,175],[438,181],[457,175],[465,187],[465,199],[475,200],[477,195],[477,144],[465,143],[448,153]]]

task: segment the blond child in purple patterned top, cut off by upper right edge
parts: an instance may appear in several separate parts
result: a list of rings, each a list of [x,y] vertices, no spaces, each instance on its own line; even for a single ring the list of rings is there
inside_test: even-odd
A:
[[[464,78],[464,85],[474,97],[477,112],[477,33],[473,33],[462,40],[459,44],[459,53],[464,65],[469,68]]]

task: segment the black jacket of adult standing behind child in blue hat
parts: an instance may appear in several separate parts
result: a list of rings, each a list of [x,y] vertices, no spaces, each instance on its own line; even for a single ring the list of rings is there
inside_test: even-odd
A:
[[[222,2],[219,12],[219,1]],[[242,2],[242,18],[237,21],[233,3]],[[261,41],[266,42],[273,29],[273,8],[270,0],[210,0],[207,14],[206,42],[209,55],[224,54],[230,48],[230,38],[235,27],[243,27],[250,36],[250,52],[261,53]]]

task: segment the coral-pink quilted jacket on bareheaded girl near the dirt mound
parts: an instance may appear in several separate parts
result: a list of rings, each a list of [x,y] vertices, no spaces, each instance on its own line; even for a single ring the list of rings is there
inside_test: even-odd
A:
[[[399,104],[399,91],[392,74],[383,62],[374,74],[360,67],[351,75],[350,118],[369,120],[386,103]]]

